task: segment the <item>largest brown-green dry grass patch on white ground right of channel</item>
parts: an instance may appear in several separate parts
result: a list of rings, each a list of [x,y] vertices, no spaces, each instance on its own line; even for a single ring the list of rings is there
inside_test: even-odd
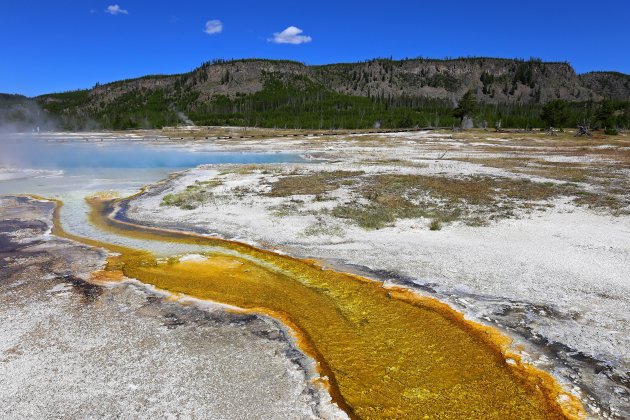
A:
[[[512,178],[383,174],[364,177],[356,190],[360,199],[339,204],[330,214],[364,229],[420,217],[433,219],[440,227],[456,220],[483,226],[491,220],[513,217],[518,207],[531,210],[541,201],[574,191],[569,184]]]

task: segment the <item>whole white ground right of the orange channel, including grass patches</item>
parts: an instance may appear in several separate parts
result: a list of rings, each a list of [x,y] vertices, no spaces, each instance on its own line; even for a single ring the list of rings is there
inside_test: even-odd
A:
[[[254,241],[438,297],[508,332],[593,416],[630,415],[626,137],[420,132],[215,144],[324,162],[197,168],[134,197],[121,216]],[[442,229],[431,231],[437,217]]]

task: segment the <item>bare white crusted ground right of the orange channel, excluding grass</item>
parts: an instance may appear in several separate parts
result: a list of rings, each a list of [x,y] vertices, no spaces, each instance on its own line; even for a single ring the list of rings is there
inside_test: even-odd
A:
[[[559,162],[599,159],[558,154],[544,141],[532,140],[523,146],[496,136],[460,141],[439,133],[214,144],[224,150],[292,151],[326,159],[318,164],[285,164],[283,173],[361,169],[367,173],[483,174],[559,182],[449,159],[523,153]],[[493,147],[497,153],[489,151]],[[397,159],[404,164],[371,164],[374,159]],[[140,223],[218,234],[402,282],[514,337],[525,346],[532,363],[552,371],[583,398],[591,416],[630,416],[629,216],[613,216],[557,199],[545,211],[519,212],[516,218],[485,227],[455,222],[441,231],[430,231],[429,220],[409,219],[367,231],[331,216],[310,214],[308,210],[335,204],[317,202],[313,197],[299,197],[306,201],[306,211],[274,215],[274,208],[290,203],[291,197],[261,195],[277,179],[273,165],[242,174],[224,171],[225,165],[185,171],[131,201],[126,215]],[[628,174],[627,169],[620,171]],[[165,194],[219,176],[224,182],[213,190],[218,198],[199,208],[160,206]],[[236,197],[237,187],[249,191]],[[333,192],[337,201],[346,199],[344,194],[343,187]],[[313,234],[318,231],[321,233]]]

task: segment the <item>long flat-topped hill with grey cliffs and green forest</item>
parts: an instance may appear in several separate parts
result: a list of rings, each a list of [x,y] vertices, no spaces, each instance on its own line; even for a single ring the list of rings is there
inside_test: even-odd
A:
[[[569,102],[575,119],[587,118],[604,100],[628,101],[630,76],[577,75],[567,63],[535,59],[377,59],[324,66],[247,59],[35,100],[70,129],[182,123],[364,128],[451,125],[452,109],[470,90],[481,104],[475,121],[525,127],[540,124],[541,105],[549,101]]]

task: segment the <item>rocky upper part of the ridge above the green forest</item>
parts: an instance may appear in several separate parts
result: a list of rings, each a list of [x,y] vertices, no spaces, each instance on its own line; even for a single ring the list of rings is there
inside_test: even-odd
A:
[[[92,102],[108,103],[129,92],[176,91],[205,101],[217,95],[258,92],[268,75],[357,96],[425,96],[455,101],[472,89],[477,99],[486,103],[630,99],[630,76],[621,73],[577,75],[568,63],[498,58],[377,59],[324,66],[262,59],[221,61],[180,75],[97,85],[89,91],[89,97]],[[55,100],[50,95],[41,98]]]

